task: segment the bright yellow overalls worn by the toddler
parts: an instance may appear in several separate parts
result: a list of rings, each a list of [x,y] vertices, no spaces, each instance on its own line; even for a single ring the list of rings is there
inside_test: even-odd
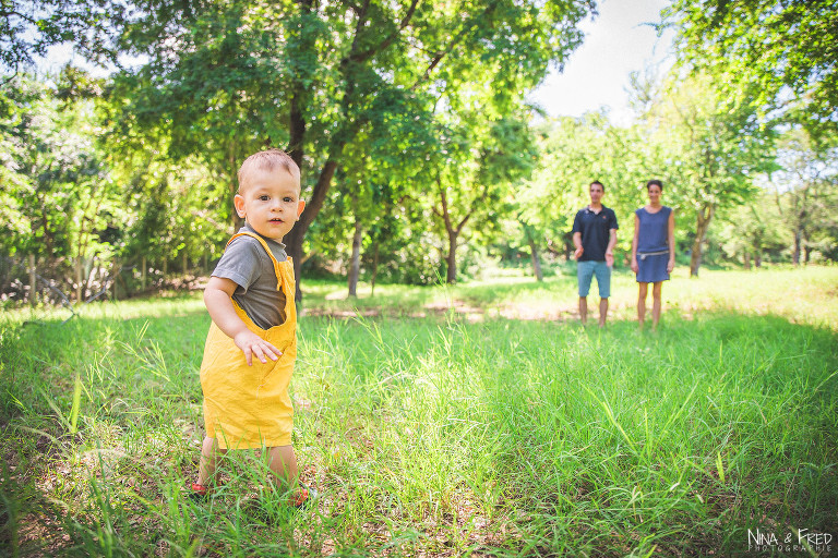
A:
[[[248,329],[279,349],[283,355],[277,361],[266,359],[265,364],[254,355],[253,366],[248,366],[241,349],[213,323],[201,363],[204,425],[206,435],[216,438],[222,449],[289,446],[294,408],[288,384],[297,360],[294,265],[290,257],[277,262],[256,234],[238,233],[227,245],[242,234],[256,239],[274,262],[276,288],[285,293],[285,323],[265,330],[253,324],[235,301],[232,305]]]

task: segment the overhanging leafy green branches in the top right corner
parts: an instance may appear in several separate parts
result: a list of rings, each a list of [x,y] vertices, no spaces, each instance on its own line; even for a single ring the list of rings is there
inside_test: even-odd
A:
[[[665,15],[682,58],[717,83],[744,97],[756,88],[764,110],[811,129],[838,125],[835,0],[678,0]]]

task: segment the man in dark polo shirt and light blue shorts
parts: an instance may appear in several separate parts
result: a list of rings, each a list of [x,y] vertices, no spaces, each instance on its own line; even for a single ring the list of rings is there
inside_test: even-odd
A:
[[[616,244],[616,216],[602,205],[606,187],[599,181],[590,183],[590,205],[576,213],[573,220],[573,245],[576,246],[576,278],[579,282],[579,318],[588,323],[588,291],[590,280],[597,276],[599,287],[599,327],[608,317],[608,296],[611,294],[611,268]]]

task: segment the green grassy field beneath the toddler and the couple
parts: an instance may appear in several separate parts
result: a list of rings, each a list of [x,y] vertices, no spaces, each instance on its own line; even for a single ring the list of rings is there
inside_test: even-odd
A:
[[[185,498],[197,293],[5,312],[0,555],[838,554],[838,268],[677,276],[655,333],[627,275],[604,330],[562,275],[304,288],[303,511],[252,453]]]

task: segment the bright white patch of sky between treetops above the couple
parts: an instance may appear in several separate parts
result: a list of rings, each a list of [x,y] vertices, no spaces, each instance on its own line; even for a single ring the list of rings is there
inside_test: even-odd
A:
[[[668,0],[602,0],[599,15],[580,25],[585,40],[568,58],[560,74],[553,68],[528,99],[546,109],[550,117],[579,117],[608,109],[616,124],[628,124],[628,75],[649,68],[666,69],[673,33],[660,38],[646,23],[659,23],[660,10]]]

